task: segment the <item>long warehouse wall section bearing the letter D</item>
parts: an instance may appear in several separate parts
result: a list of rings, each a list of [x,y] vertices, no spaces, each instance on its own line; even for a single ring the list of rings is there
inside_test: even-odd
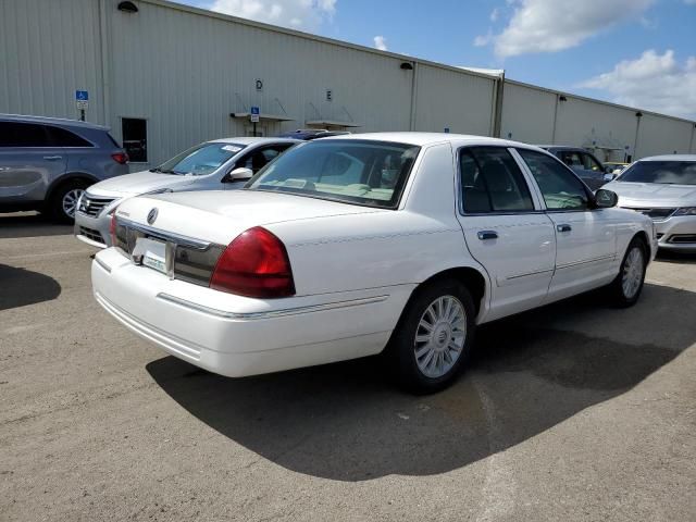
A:
[[[251,105],[293,120],[261,122],[269,135],[325,120],[360,130],[409,128],[413,73],[401,60],[144,2],[136,15],[111,16],[113,126],[122,116],[147,117],[156,160],[247,134],[248,117],[229,113]]]

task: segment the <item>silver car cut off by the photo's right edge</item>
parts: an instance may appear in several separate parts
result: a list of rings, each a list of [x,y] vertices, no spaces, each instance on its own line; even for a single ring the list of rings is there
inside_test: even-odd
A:
[[[652,219],[660,248],[696,251],[696,154],[643,158],[605,188]]]

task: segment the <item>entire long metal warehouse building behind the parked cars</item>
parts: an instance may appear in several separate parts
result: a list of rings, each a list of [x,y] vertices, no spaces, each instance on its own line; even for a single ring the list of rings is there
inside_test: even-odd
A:
[[[692,121],[163,0],[0,0],[0,112],[78,117],[77,90],[86,120],[141,166],[250,135],[252,107],[263,135],[449,130],[602,160],[696,152]]]

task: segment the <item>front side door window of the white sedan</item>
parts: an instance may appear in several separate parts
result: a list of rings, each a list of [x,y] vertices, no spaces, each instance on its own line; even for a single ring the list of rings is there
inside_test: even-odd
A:
[[[539,186],[548,210],[586,210],[589,197],[585,185],[552,157],[535,150],[518,149]]]

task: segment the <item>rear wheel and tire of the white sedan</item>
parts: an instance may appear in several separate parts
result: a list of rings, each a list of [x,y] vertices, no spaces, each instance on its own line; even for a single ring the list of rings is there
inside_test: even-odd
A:
[[[470,291],[456,279],[439,279],[417,289],[385,351],[388,370],[398,383],[414,394],[450,385],[469,359],[475,314]]]

